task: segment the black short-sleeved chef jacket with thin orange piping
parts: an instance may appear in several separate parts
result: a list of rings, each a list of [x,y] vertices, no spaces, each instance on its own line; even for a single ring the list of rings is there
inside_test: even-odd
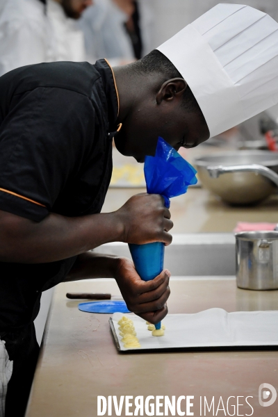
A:
[[[21,67],[0,78],[0,92],[0,209],[36,222],[50,212],[99,213],[118,113],[106,60]],[[30,326],[42,291],[63,281],[75,259],[0,263],[4,340]]]

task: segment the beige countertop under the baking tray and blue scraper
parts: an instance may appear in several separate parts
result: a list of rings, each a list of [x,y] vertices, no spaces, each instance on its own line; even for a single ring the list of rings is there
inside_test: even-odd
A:
[[[240,290],[234,277],[172,278],[170,287],[170,313],[215,306],[227,311],[278,309],[277,291]],[[70,291],[120,295],[115,281],[108,279],[56,287],[27,417],[97,416],[97,395],[194,395],[195,416],[200,395],[208,400],[214,395],[216,402],[220,395],[224,402],[231,395],[252,395],[253,416],[278,415],[278,401],[271,407],[258,402],[260,384],[278,386],[278,351],[120,354],[109,315],[79,311],[79,302],[65,297]],[[251,409],[245,403],[240,412],[250,414]]]

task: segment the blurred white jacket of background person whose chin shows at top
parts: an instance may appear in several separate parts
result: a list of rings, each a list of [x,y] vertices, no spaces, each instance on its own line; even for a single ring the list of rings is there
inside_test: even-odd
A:
[[[76,20],[67,17],[60,3],[54,0],[47,1],[47,16],[55,39],[55,60],[86,60],[84,35]]]

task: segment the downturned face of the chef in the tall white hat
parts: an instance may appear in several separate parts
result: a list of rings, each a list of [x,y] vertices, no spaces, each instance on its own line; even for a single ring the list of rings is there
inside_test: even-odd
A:
[[[209,138],[208,127],[197,113],[188,113],[181,100],[163,101],[159,106],[145,99],[123,121],[115,136],[119,152],[144,162],[146,155],[154,156],[158,136],[174,149],[191,148]]]

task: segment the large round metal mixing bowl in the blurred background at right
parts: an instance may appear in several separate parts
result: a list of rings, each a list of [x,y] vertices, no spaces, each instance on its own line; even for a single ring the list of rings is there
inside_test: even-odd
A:
[[[242,165],[250,167],[253,164],[256,164],[257,167],[254,172],[224,173],[224,170],[219,172],[220,167],[235,167],[236,165],[238,167]],[[274,174],[274,172],[278,172],[278,153],[275,152],[236,151],[215,153],[195,159],[194,165],[204,187],[229,204],[255,204],[277,190],[277,186],[273,182],[278,178]],[[265,175],[263,168],[261,170],[263,175],[258,174],[259,165],[270,168],[270,171],[266,173],[268,178],[263,176]],[[216,168],[216,171],[213,172],[214,168]],[[218,177],[219,173],[224,174]],[[269,178],[272,174],[274,175],[271,181]]]

